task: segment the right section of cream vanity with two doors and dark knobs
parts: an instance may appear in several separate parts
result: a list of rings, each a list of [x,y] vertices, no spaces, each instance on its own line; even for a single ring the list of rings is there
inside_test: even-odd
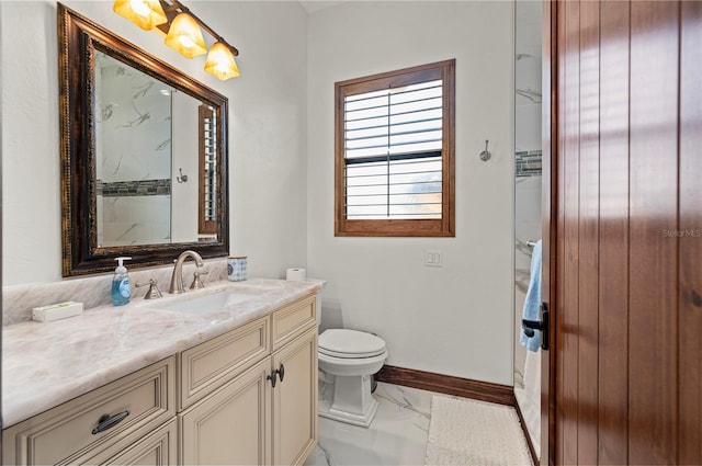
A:
[[[183,464],[305,462],[317,442],[315,312],[308,297],[182,353],[182,386],[202,396],[178,414]]]

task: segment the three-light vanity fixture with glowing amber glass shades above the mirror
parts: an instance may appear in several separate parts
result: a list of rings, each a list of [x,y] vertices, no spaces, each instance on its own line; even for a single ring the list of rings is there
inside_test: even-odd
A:
[[[205,30],[214,38],[210,48],[205,71],[224,81],[240,75],[234,57],[239,55],[236,47],[229,45],[219,34],[197,18],[188,7],[178,0],[115,0],[113,10],[144,30],[158,27],[166,34],[166,45],[185,58],[207,53],[202,34]],[[158,11],[165,18],[158,20]],[[157,18],[147,21],[147,18]],[[159,22],[160,21],[160,22]]]

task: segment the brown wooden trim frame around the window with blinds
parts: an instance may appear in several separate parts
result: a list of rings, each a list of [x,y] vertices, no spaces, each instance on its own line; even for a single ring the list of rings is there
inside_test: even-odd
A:
[[[346,218],[344,96],[439,77],[443,80],[442,215],[440,219]],[[335,83],[335,236],[455,237],[455,59]]]

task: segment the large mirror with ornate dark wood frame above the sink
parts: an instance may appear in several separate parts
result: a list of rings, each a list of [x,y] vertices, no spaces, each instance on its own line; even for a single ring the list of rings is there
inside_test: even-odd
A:
[[[63,275],[227,255],[227,99],[57,8]]]

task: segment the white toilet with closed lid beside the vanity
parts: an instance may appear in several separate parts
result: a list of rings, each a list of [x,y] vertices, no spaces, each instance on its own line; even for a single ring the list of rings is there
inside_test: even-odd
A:
[[[371,333],[329,329],[319,336],[319,378],[333,384],[332,396],[320,390],[319,416],[367,428],[377,401],[371,395],[373,374],[387,359],[385,341]]]

